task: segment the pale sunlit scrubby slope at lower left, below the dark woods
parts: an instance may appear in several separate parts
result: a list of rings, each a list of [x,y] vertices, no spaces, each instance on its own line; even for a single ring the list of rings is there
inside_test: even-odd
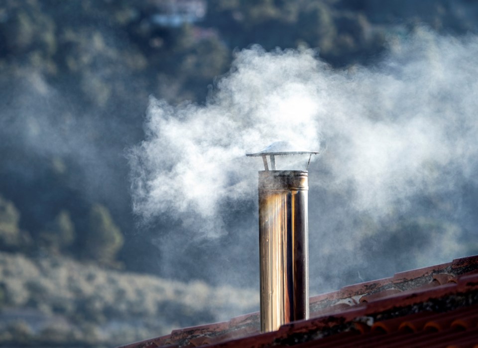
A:
[[[258,306],[255,291],[107,271],[61,256],[3,252],[0,274],[0,346],[113,347]]]

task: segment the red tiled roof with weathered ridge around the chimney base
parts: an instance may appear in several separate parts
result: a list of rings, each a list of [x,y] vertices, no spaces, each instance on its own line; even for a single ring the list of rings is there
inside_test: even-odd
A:
[[[311,297],[309,320],[264,334],[259,327],[259,314],[252,313],[123,348],[478,348],[478,256]]]

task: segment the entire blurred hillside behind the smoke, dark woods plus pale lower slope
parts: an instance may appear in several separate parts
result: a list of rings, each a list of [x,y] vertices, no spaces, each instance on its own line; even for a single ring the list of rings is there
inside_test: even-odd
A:
[[[174,269],[162,262],[157,244],[181,222],[164,216],[143,226],[132,214],[127,153],[143,140],[150,95],[171,104],[206,104],[235,52],[252,44],[313,48],[331,68],[352,69],[377,62],[393,38],[418,26],[463,35],[477,33],[477,18],[478,3],[467,0],[1,0],[0,344],[17,343],[12,332],[37,342],[47,335],[74,342],[100,337],[92,345],[127,343],[174,325],[221,319],[214,308],[254,310],[254,301],[227,304],[240,295],[207,285],[223,285],[216,270],[231,264],[256,275],[254,257],[227,248],[242,240],[241,224],[245,214],[255,214],[254,202],[224,207],[231,210],[232,232],[222,238],[204,242],[186,235],[194,244],[181,241]],[[476,211],[478,187],[467,185],[465,204]],[[360,228],[381,228],[373,224]],[[400,236],[453,230],[417,217],[389,229],[392,237],[375,241],[386,246],[377,253],[391,250],[405,267],[413,262],[396,250],[408,245]],[[255,250],[255,242],[246,246]],[[478,251],[473,243],[467,248]],[[206,269],[210,259],[219,266]],[[196,280],[194,292],[203,289],[208,300],[199,307],[177,304],[193,290],[120,270]],[[389,276],[386,271],[375,266],[366,276]],[[357,274],[343,276],[349,282]],[[238,274],[234,281],[247,288],[257,280]],[[48,325],[35,328],[22,320],[30,314],[21,308],[67,318],[67,324],[48,333]],[[1,326],[9,313],[20,319],[14,327]],[[137,320],[137,332],[102,341],[102,335],[123,334],[123,320]]]

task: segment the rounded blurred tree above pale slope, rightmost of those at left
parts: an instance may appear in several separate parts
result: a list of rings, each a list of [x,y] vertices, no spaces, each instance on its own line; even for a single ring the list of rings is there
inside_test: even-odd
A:
[[[85,239],[86,254],[102,263],[112,264],[122,246],[123,235],[114,223],[108,208],[100,204],[93,205]]]

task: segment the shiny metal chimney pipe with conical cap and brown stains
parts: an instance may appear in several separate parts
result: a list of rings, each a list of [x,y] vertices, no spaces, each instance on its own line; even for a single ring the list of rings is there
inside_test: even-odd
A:
[[[309,318],[308,172],[276,170],[275,156],[308,154],[310,162],[314,153],[279,141],[247,154],[261,156],[265,168],[258,183],[261,332]]]

